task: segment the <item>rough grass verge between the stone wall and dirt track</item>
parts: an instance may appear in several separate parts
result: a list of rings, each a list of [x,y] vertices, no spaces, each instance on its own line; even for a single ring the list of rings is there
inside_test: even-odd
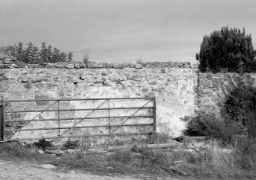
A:
[[[156,140],[165,140],[156,135]],[[68,143],[69,144],[69,143]],[[228,149],[228,150],[227,150]],[[43,157],[47,156],[47,157]],[[36,159],[60,169],[81,169],[96,174],[136,174],[150,176],[190,175],[190,178],[255,179],[256,140],[239,137],[233,145],[225,146],[220,140],[211,140],[208,149],[194,153],[182,150],[159,151],[150,149],[147,144],[131,149],[120,149],[110,154],[65,153],[53,158],[47,154],[33,153],[28,146],[20,143],[1,143],[0,158]]]

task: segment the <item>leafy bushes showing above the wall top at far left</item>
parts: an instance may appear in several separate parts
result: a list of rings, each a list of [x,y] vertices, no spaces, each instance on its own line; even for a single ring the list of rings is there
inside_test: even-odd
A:
[[[14,56],[18,61],[30,64],[37,63],[57,63],[71,61],[73,53],[60,52],[56,47],[51,47],[46,43],[41,43],[41,49],[35,47],[33,43],[28,43],[27,47],[23,47],[23,43],[8,47],[0,47],[0,53],[5,56]]]

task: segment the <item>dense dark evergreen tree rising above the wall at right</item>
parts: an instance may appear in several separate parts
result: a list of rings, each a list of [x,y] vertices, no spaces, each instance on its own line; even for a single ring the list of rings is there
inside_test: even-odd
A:
[[[222,27],[203,37],[199,54],[201,72],[256,72],[254,47],[251,34],[237,28]]]

